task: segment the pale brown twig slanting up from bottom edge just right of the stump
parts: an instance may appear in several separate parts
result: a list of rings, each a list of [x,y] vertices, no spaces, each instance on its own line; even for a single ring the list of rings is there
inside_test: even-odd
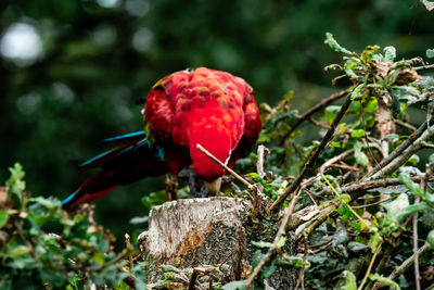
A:
[[[247,279],[246,283],[246,289],[251,289],[253,282],[256,280],[257,276],[260,274],[263,268],[271,261],[271,259],[277,254],[279,250],[279,241],[282,238],[282,236],[286,232],[286,226],[288,222],[290,220],[290,217],[292,213],[294,212],[295,203],[297,201],[299,190],[294,193],[293,199],[291,200],[290,206],[285,209],[284,216],[282,218],[282,223],[280,224],[279,230],[276,234],[275,240],[272,242],[272,247],[270,247],[267,251],[267,253],[264,255],[263,260],[260,260],[259,264],[255,267],[253,273]]]

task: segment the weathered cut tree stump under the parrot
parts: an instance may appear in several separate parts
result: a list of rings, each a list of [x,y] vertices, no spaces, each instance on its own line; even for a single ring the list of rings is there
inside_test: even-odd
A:
[[[272,242],[279,223],[270,217],[251,218],[252,204],[238,198],[188,199],[166,202],[150,213],[149,230],[139,236],[148,281],[162,278],[159,265],[187,269],[218,269],[212,273],[221,283],[246,279],[252,257],[258,249],[252,241]],[[282,249],[295,254],[294,240],[288,237]],[[203,275],[206,276],[206,275]],[[191,276],[192,277],[192,276]],[[268,289],[294,289],[296,273],[278,267],[266,280]]]

